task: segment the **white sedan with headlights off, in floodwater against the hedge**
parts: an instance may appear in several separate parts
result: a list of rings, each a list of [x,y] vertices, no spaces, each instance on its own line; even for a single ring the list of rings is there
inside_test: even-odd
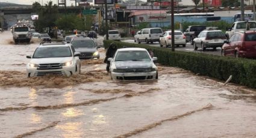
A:
[[[148,51],[142,48],[117,49],[110,61],[111,79],[114,80],[154,80],[158,79],[157,66]]]

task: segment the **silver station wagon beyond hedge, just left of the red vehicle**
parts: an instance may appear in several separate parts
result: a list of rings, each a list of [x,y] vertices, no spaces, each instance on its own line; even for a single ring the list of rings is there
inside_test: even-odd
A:
[[[203,51],[209,47],[216,50],[217,47],[222,47],[224,41],[226,41],[226,36],[221,30],[205,30],[193,40],[193,47],[194,50],[198,50],[198,47],[201,47]]]

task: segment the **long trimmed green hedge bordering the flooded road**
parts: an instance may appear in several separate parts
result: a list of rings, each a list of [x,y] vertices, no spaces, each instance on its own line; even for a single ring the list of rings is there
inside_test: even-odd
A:
[[[151,47],[145,44],[131,44],[120,41],[104,40],[105,49],[110,43],[116,43],[118,48],[142,47],[151,49],[158,57],[158,63],[172,67],[180,67],[199,73],[204,76],[215,77],[226,80],[230,75],[233,76],[231,82],[256,88],[256,60],[245,58],[231,58],[204,53],[192,53],[175,51],[162,47]]]

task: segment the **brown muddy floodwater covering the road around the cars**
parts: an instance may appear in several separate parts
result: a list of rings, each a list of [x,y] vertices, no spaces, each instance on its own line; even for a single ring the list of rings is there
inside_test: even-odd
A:
[[[0,34],[0,137],[256,137],[256,91],[158,65],[159,79],[116,82],[101,59],[71,77],[26,77],[39,46]],[[102,40],[95,40],[102,44]]]

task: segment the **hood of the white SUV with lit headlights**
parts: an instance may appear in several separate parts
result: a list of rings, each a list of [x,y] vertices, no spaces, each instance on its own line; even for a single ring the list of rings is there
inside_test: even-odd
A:
[[[31,59],[30,63],[33,64],[53,64],[53,63],[64,63],[71,61],[72,57],[65,57],[65,58],[33,58]]]

